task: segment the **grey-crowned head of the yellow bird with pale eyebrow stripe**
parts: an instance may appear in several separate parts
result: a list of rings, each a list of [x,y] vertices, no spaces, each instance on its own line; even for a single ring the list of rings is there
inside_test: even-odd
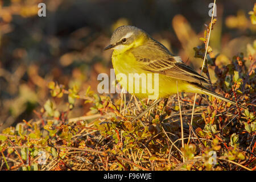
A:
[[[104,50],[114,49],[118,53],[141,46],[148,40],[148,35],[143,30],[133,26],[118,27],[110,39],[110,44]]]

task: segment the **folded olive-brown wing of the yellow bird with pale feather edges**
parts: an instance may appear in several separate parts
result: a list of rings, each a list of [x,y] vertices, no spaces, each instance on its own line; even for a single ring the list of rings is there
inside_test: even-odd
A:
[[[174,56],[162,44],[155,40],[131,50],[141,68],[176,79],[199,84],[209,84],[209,80],[184,64],[180,57]]]

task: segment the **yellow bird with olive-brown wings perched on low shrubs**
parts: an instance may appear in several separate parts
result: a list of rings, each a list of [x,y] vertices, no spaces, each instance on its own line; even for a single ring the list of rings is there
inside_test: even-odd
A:
[[[156,94],[155,102],[151,105],[155,106],[164,98],[168,98],[172,94],[178,92],[189,92],[198,94],[207,94],[216,97],[230,104],[237,105],[236,102],[229,100],[212,92],[207,88],[211,85],[210,80],[197,73],[194,69],[186,65],[180,56],[173,55],[163,44],[153,39],[147,32],[141,28],[134,26],[121,26],[113,32],[110,44],[104,50],[113,49],[112,64],[118,82],[129,93],[130,81],[124,78],[129,74],[144,75],[148,78],[149,74],[158,74],[158,94]],[[121,76],[120,76],[121,75]],[[142,77],[140,77],[142,80]],[[152,79],[153,80],[153,79]],[[148,79],[146,79],[147,83]],[[134,82],[130,83],[134,84]],[[154,80],[152,81],[154,85]],[[140,90],[145,89],[146,92],[134,92],[135,96],[142,99],[151,96],[150,90],[145,88],[142,81],[139,85],[134,85]],[[245,106],[238,104],[239,107],[246,109]],[[145,110],[142,114],[146,113]],[[142,114],[139,116],[141,117]],[[138,119],[138,117],[137,117]]]

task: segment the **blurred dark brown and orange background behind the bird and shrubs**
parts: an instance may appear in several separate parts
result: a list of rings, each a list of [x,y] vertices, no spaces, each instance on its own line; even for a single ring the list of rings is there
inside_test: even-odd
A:
[[[38,4],[46,3],[46,17]],[[50,97],[47,84],[66,88],[88,86],[97,93],[97,75],[112,68],[111,51],[104,52],[115,28],[130,24],[142,28],[197,71],[202,60],[193,47],[203,44],[209,24],[209,3],[181,0],[12,0],[0,1],[0,130],[35,117]],[[217,23],[210,46],[218,64],[228,64],[243,52],[255,55],[255,25],[249,11],[255,1],[217,1]],[[214,71],[210,69],[214,82]],[[55,99],[59,105],[63,100]],[[70,117],[88,112],[76,102]]]

